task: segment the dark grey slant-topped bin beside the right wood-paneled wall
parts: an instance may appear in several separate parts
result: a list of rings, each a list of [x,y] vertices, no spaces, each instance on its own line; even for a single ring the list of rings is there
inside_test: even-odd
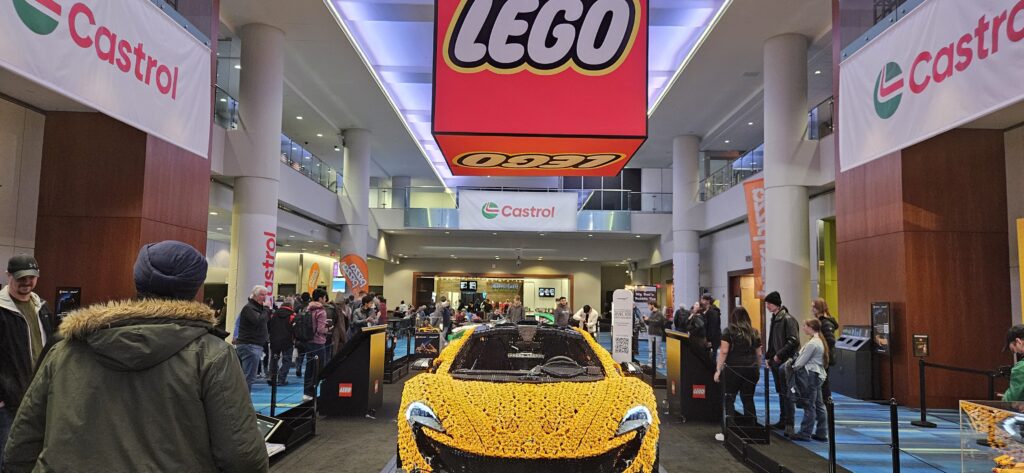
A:
[[[871,328],[844,326],[836,340],[836,364],[828,370],[834,392],[858,399],[871,398]]]

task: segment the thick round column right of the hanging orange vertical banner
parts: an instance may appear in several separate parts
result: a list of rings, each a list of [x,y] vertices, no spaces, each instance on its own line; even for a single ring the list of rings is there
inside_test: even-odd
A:
[[[807,38],[764,44],[765,292],[778,291],[798,319],[810,316],[811,246],[806,165],[796,160],[807,128]]]

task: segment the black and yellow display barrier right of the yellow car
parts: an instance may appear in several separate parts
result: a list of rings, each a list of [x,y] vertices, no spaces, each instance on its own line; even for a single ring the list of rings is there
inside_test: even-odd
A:
[[[721,422],[722,387],[715,382],[715,362],[689,334],[666,330],[669,414],[687,421]]]

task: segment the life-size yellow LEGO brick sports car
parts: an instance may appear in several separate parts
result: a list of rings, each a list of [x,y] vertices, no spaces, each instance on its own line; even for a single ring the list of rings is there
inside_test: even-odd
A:
[[[406,383],[407,472],[657,471],[654,393],[586,332],[477,326]]]

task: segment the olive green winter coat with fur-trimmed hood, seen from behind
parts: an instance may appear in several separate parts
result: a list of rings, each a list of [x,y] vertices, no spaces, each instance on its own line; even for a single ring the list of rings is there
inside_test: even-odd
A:
[[[22,473],[265,472],[234,349],[206,305],[134,300],[63,319],[11,427]]]

